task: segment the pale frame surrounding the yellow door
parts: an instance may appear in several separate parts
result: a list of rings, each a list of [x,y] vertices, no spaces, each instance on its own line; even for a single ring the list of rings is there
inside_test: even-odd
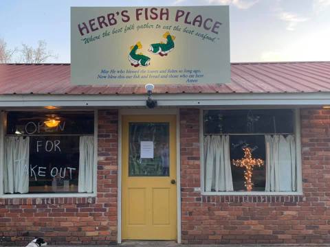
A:
[[[122,116],[123,115],[175,115],[177,149],[177,243],[181,244],[181,152],[179,108],[120,109],[118,112],[118,195],[117,195],[117,242],[122,243]]]

